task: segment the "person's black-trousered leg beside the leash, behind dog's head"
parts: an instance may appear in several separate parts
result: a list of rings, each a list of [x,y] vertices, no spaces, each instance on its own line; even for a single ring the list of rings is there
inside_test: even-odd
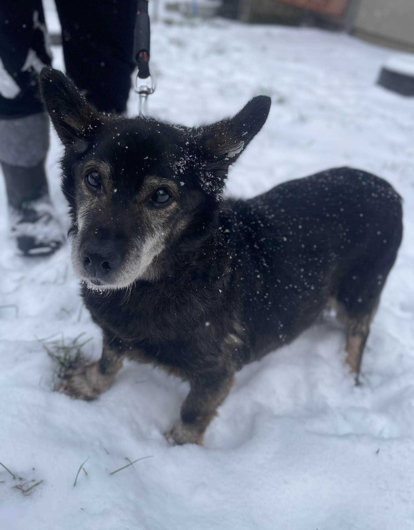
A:
[[[122,113],[131,87],[136,0],[57,0],[66,73],[101,112]]]

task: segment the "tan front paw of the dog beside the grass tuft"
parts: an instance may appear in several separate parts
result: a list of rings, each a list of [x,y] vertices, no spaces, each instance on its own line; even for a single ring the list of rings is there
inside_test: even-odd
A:
[[[58,392],[86,401],[96,399],[111,386],[113,381],[113,377],[102,374],[99,363],[67,370],[62,379]]]

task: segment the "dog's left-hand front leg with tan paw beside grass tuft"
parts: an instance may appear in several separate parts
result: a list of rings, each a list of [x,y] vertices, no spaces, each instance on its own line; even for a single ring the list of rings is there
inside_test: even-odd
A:
[[[101,359],[96,363],[67,370],[58,390],[71,398],[86,401],[96,399],[111,386],[122,367],[123,359],[123,351],[104,335]]]

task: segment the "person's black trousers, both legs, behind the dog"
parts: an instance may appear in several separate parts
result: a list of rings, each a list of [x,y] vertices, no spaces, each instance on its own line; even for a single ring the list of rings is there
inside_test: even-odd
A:
[[[123,112],[136,0],[56,0],[66,72],[100,111]],[[38,74],[50,65],[41,0],[0,0],[0,118],[43,111]]]

